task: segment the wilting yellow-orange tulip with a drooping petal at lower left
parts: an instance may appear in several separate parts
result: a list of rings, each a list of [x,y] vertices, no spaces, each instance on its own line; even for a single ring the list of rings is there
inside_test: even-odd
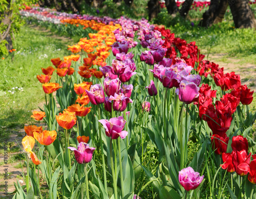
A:
[[[27,152],[28,157],[31,158],[33,163],[35,165],[41,164],[41,161],[39,161],[39,159],[36,157],[36,154],[32,151],[32,148],[35,145],[35,139],[33,137],[27,135],[22,139],[22,145],[23,145],[25,151]]]

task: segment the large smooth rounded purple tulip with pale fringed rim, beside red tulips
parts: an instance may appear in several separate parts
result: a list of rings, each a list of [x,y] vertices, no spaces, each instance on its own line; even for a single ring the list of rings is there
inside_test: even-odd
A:
[[[199,87],[194,82],[188,82],[182,80],[179,84],[179,88],[176,89],[179,100],[186,104],[191,104],[195,98],[199,96]]]

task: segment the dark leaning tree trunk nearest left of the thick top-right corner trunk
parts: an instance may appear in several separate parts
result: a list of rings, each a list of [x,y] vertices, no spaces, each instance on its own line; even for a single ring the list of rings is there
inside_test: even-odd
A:
[[[220,0],[223,1],[223,0]],[[198,26],[209,27],[216,16],[218,15],[219,1],[211,0],[209,9],[203,14],[203,19],[199,22]]]

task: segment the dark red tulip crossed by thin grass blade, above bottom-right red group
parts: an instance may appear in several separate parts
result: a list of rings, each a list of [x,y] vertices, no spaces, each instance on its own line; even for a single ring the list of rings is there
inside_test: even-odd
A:
[[[223,136],[219,136],[217,134],[211,136],[211,144],[212,149],[214,152],[218,155],[221,155],[222,153],[227,152],[228,147],[228,140],[229,137],[227,137],[227,134],[223,134]]]

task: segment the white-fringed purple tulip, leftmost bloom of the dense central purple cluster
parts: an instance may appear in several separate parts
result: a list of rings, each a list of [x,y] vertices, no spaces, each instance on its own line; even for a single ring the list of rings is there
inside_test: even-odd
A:
[[[105,101],[104,91],[100,84],[91,85],[90,91],[85,91],[93,105],[102,104]]]

